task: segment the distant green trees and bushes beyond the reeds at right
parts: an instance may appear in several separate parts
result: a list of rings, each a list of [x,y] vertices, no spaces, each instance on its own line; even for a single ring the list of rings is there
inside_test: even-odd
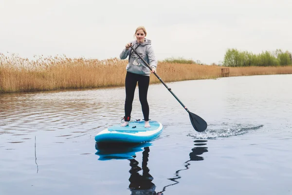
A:
[[[275,52],[265,51],[253,54],[237,49],[228,49],[224,56],[223,66],[287,66],[292,65],[292,54],[277,49]]]

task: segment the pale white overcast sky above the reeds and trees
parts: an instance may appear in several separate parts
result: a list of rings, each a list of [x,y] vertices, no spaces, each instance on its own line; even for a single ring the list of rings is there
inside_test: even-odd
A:
[[[0,53],[118,58],[139,25],[157,59],[292,52],[291,0],[0,0]]]

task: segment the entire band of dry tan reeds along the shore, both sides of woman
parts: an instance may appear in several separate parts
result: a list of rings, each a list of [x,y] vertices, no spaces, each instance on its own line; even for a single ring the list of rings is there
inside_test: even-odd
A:
[[[68,59],[55,57],[31,61],[0,56],[0,94],[124,86],[127,60]],[[157,74],[164,82],[220,78],[221,68],[230,77],[292,74],[292,66],[222,67],[160,61]],[[150,83],[160,81],[152,74]]]

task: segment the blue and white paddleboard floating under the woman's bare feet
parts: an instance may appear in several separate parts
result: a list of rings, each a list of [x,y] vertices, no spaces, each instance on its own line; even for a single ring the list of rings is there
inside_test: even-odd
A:
[[[161,134],[163,125],[157,121],[149,121],[151,127],[145,128],[145,121],[130,121],[126,127],[113,125],[95,136],[96,142],[143,143],[151,141]]]

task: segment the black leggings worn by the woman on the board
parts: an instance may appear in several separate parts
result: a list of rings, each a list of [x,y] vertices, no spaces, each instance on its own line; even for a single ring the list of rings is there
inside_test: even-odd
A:
[[[127,72],[125,81],[126,86],[125,121],[128,121],[131,117],[132,103],[134,99],[137,82],[139,87],[139,99],[142,106],[144,120],[145,121],[149,120],[149,105],[147,102],[149,81],[150,81],[149,76]]]

